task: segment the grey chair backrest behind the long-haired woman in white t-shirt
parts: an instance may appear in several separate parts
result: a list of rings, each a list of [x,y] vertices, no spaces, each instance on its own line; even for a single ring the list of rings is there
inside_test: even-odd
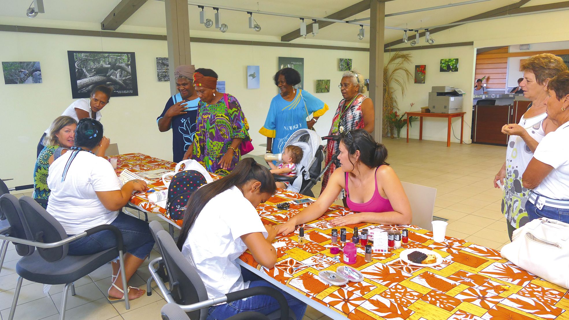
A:
[[[208,300],[208,292],[196,268],[188,260],[189,257],[184,257],[178,250],[170,234],[166,230],[160,230],[156,233],[156,238],[172,284],[174,301],[180,305],[191,305]],[[191,311],[188,315],[192,319],[204,320],[208,316],[208,310],[208,307],[204,307]]]

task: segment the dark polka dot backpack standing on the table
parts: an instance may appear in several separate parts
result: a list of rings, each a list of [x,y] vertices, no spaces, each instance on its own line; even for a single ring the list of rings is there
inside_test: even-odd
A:
[[[172,220],[184,218],[185,206],[189,197],[200,186],[207,183],[205,177],[199,171],[188,170],[174,174],[170,187],[168,187],[168,200],[166,201],[166,214],[168,217]]]

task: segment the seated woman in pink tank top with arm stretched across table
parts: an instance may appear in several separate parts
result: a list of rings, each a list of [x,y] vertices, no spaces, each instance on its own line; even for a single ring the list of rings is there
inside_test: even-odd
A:
[[[358,129],[340,134],[339,149],[341,166],[332,173],[318,200],[286,223],[278,225],[278,234],[290,234],[295,226],[321,217],[343,189],[348,208],[355,213],[333,219],[332,225],[411,223],[411,205],[397,174],[385,162],[385,146],[376,143],[367,131]]]

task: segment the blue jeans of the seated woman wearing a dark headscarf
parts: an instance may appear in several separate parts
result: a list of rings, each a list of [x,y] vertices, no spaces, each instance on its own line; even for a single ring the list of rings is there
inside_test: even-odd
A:
[[[121,230],[126,252],[139,259],[145,259],[150,254],[152,247],[154,247],[154,238],[152,238],[147,222],[119,212],[117,218],[110,225]],[[116,246],[113,232],[104,230],[70,242],[69,255],[92,255]]]

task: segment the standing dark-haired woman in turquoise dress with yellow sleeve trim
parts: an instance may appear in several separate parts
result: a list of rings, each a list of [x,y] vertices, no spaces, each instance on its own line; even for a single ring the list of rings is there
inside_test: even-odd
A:
[[[295,69],[278,70],[273,80],[281,92],[271,100],[269,114],[259,133],[267,137],[267,153],[282,153],[292,133],[299,129],[312,129],[328,110],[328,105],[314,95],[294,88],[300,83],[300,73]],[[307,121],[310,114],[314,118]]]

